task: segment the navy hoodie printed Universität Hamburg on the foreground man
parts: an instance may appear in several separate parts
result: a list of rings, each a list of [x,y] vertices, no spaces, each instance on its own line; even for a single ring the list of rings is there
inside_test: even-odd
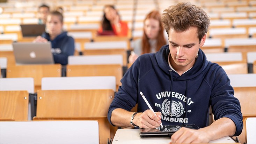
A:
[[[162,113],[163,125],[206,127],[211,105],[214,119],[230,118],[236,125],[234,136],[240,135],[243,128],[240,103],[221,66],[208,62],[199,49],[193,67],[180,76],[170,71],[169,54],[169,46],[165,45],[156,54],[141,55],[134,62],[109,107],[109,122],[116,108],[130,111],[138,103],[138,112],[149,109],[139,94],[141,91],[153,110]]]

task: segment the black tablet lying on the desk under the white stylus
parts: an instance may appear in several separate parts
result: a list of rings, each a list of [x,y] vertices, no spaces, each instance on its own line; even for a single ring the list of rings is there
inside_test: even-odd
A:
[[[182,127],[199,129],[196,125],[169,125],[163,126],[163,128],[153,128],[153,129],[144,129],[140,128],[140,137],[141,138],[170,138],[177,130]]]

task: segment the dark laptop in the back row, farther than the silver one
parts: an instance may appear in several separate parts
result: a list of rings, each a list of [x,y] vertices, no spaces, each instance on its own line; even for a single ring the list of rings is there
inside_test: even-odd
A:
[[[21,24],[20,26],[23,37],[37,37],[45,31],[44,24]]]

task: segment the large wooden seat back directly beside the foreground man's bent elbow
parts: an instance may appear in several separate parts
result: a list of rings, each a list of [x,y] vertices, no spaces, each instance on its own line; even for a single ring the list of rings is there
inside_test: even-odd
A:
[[[114,134],[107,119],[113,98],[110,89],[38,90],[34,120],[98,120],[100,143],[105,143]]]

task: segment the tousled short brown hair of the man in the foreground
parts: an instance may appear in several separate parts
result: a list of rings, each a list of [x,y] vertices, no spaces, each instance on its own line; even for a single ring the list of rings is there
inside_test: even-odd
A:
[[[170,29],[183,32],[190,27],[197,27],[197,37],[200,42],[209,29],[210,19],[202,8],[185,2],[165,9],[162,23],[168,37]]]

